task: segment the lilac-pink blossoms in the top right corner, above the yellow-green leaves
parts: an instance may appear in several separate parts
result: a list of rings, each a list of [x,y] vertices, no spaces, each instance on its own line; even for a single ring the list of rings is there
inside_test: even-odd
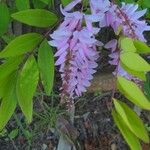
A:
[[[143,32],[149,31],[150,26],[140,18],[146,13],[145,10],[138,11],[138,5],[122,3],[122,7],[109,2],[108,0],[91,0],[93,14],[101,16],[100,27],[111,26],[115,32],[122,27],[125,36],[146,41]]]

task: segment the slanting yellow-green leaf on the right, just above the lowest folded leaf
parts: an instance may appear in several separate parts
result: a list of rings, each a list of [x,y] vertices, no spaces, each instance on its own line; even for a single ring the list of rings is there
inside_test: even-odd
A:
[[[137,106],[150,110],[150,102],[147,100],[140,88],[132,81],[125,79],[124,77],[117,77],[118,89],[125,97],[127,97],[132,103]]]

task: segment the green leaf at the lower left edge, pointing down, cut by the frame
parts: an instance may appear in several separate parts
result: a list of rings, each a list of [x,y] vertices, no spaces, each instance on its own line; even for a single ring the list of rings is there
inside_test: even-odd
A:
[[[16,72],[8,78],[7,93],[2,99],[2,103],[0,106],[0,130],[5,127],[12,114],[14,113],[17,105],[16,79]]]

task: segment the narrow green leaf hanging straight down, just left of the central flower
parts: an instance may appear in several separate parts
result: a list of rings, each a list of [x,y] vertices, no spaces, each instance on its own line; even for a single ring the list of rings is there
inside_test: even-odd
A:
[[[46,40],[38,51],[38,66],[45,92],[50,95],[54,80],[54,56],[52,48]]]

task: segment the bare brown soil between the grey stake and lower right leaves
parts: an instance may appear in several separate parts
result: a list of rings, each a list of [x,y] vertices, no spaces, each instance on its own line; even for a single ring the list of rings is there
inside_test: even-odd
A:
[[[105,93],[103,96],[90,96],[83,107],[79,104],[78,113],[84,117],[77,120],[77,127],[81,145],[86,150],[128,149],[114,126],[110,103],[110,93]]]

